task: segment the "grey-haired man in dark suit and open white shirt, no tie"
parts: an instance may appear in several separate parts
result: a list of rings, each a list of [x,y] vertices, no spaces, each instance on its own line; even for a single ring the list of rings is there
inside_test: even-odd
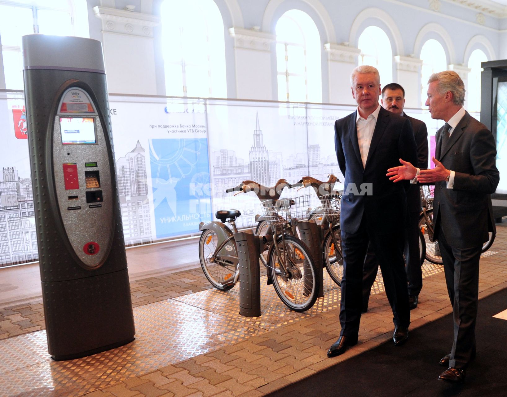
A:
[[[328,356],[342,354],[357,343],[361,318],[363,263],[371,241],[384,276],[393,312],[393,342],[408,338],[410,309],[403,261],[407,200],[405,187],[385,176],[385,164],[408,156],[417,160],[410,121],[379,105],[380,76],[362,65],[350,77],[357,110],[335,122],[338,165],[345,176],[341,203],[343,278],[341,283],[340,338]],[[390,168],[390,167],[388,167]],[[389,220],[385,221],[388,214]]]

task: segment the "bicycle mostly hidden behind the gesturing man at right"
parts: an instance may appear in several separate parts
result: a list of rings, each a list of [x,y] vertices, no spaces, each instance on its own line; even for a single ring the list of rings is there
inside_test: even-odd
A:
[[[433,227],[433,187],[421,186],[421,204],[422,210],[419,216],[419,230],[424,236],[424,243],[426,247],[425,258],[431,263],[443,264],[442,255],[440,254],[439,242],[434,238]],[[481,252],[486,252],[491,248],[495,236],[491,231],[489,232],[488,241],[486,241]]]

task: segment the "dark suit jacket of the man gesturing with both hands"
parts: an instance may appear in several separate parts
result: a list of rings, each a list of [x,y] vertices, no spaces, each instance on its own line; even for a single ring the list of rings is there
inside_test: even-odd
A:
[[[495,165],[496,145],[488,128],[468,112],[454,128],[447,150],[442,152],[443,127],[437,131],[435,157],[455,172],[454,189],[446,182],[435,184],[433,219],[448,243],[456,248],[473,248],[496,232],[490,193],[500,180]],[[436,236],[438,238],[438,236]]]

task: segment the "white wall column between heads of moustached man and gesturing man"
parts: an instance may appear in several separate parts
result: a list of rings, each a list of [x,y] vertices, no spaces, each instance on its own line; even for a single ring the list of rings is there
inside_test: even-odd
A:
[[[426,82],[421,81],[422,60],[412,56],[396,55],[397,83],[405,89],[405,106],[407,108],[420,108],[424,106],[421,103],[421,87]]]

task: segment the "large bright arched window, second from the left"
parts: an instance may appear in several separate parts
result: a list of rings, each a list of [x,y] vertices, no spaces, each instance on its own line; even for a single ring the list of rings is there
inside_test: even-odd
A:
[[[213,0],[161,6],[166,94],[226,97],[224,21]]]

